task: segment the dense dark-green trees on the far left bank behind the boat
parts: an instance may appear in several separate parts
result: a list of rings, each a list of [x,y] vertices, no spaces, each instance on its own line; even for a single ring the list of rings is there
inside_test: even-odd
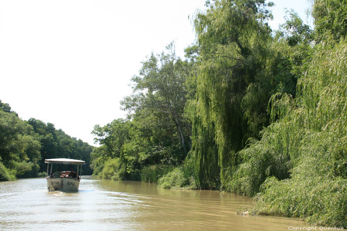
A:
[[[83,174],[91,174],[93,146],[56,130],[51,123],[31,118],[23,121],[0,100],[0,181],[43,176],[45,159],[71,158],[86,161]]]

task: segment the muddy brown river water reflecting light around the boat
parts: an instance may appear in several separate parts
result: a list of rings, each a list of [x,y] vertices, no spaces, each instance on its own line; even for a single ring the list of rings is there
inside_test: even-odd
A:
[[[305,227],[294,219],[239,216],[244,196],[172,190],[156,184],[82,177],[79,191],[48,192],[46,179],[0,182],[0,230],[233,230]]]

